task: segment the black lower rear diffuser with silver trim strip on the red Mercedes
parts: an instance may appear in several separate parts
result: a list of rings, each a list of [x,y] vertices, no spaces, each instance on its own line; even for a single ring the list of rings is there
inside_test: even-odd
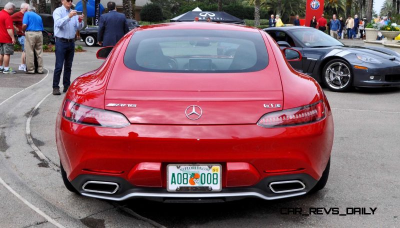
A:
[[[87,192],[82,190],[82,184],[89,180],[100,180],[107,182],[115,182],[119,184],[118,191],[115,194],[103,194],[95,192]],[[282,180],[299,180],[304,183],[305,188],[293,192],[274,193],[268,187],[269,183],[273,181]],[[287,198],[293,196],[303,195],[308,192],[317,180],[308,174],[291,174],[270,176],[260,180],[256,185],[250,187],[233,187],[223,188],[219,192],[168,192],[163,188],[144,188],[137,187],[123,178],[112,176],[98,176],[98,175],[79,175],[71,183],[84,195],[94,198],[101,198],[107,200],[121,201],[130,198],[146,198],[156,201],[230,201],[247,197],[255,197],[266,200]]]

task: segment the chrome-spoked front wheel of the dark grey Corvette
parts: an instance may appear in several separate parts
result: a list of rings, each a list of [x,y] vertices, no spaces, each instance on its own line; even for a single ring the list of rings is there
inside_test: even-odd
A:
[[[323,67],[322,81],[335,92],[344,92],[351,88],[352,73],[348,64],[340,59],[330,60]]]

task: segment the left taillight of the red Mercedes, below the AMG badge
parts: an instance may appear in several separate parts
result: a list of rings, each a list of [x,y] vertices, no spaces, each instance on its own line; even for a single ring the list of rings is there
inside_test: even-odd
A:
[[[62,116],[69,121],[85,125],[114,128],[129,125],[129,121],[121,113],[77,104],[68,99],[62,107]]]

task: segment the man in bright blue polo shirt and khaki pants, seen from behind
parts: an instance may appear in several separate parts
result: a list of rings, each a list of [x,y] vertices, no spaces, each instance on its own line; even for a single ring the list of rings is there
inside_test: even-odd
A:
[[[34,54],[37,58],[37,73],[43,73],[43,59],[41,53],[43,51],[43,21],[35,12],[33,6],[29,6],[27,12],[23,14],[22,31],[25,32],[25,55],[26,55],[26,73],[34,74]]]

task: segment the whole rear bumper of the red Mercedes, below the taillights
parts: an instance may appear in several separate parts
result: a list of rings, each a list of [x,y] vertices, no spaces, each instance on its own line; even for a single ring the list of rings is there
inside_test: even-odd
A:
[[[276,199],[306,193],[322,175],[333,142],[333,120],[286,128],[245,125],[131,124],[112,129],[57,118],[57,149],[68,179],[81,194],[144,198]],[[220,192],[166,191],[169,163],[219,163]],[[273,180],[300,180],[305,188],[274,193]],[[112,195],[85,192],[86,181],[116,182]],[[225,199],[226,200],[226,199]]]

